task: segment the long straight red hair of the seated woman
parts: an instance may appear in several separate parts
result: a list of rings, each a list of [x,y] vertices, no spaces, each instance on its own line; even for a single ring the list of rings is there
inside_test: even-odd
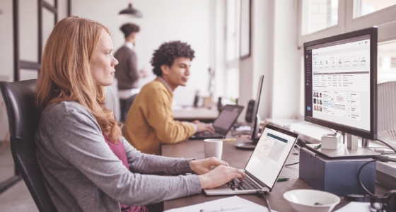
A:
[[[104,25],[86,18],[71,16],[59,21],[42,54],[35,97],[40,110],[56,102],[78,102],[93,114],[107,139],[117,143],[121,128],[104,106],[105,88],[91,74],[102,30],[110,34]]]

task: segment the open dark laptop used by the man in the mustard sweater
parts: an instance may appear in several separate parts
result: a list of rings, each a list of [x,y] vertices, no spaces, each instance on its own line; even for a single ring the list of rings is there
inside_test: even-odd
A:
[[[242,110],[243,106],[241,105],[226,105],[221,110],[219,117],[213,122],[214,134],[209,131],[203,131],[192,135],[190,139],[223,139],[223,136],[228,134]]]

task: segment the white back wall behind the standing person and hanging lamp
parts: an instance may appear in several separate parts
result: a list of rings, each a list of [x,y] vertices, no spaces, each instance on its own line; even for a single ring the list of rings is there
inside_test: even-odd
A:
[[[151,73],[144,81],[151,81],[150,59],[153,51],[163,42],[181,40],[191,45],[195,51],[192,73],[186,87],[175,90],[174,100],[179,105],[192,105],[195,90],[202,95],[207,92],[210,66],[210,1],[209,0],[134,0],[133,7],[141,11],[142,18],[120,19],[117,14],[127,8],[129,1],[84,0],[73,1],[71,14],[97,20],[110,28],[115,49],[124,44],[124,36],[119,30],[123,23],[132,22],[141,27],[136,40],[139,66]],[[213,64],[213,62],[212,62]]]

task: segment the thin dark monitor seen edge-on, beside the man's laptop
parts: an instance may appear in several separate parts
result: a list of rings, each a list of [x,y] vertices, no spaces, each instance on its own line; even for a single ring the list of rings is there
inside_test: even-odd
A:
[[[236,148],[240,149],[246,149],[246,150],[254,150],[256,147],[256,144],[258,143],[260,136],[258,136],[259,130],[260,130],[260,117],[257,114],[258,113],[258,108],[260,104],[260,96],[261,96],[261,91],[262,91],[262,84],[264,82],[264,75],[260,76],[259,79],[259,85],[257,89],[257,96],[256,100],[254,101],[254,107],[252,108],[252,119],[255,120],[252,126],[252,142],[245,142],[245,143],[236,143],[235,146]],[[248,107],[250,106],[250,102]]]

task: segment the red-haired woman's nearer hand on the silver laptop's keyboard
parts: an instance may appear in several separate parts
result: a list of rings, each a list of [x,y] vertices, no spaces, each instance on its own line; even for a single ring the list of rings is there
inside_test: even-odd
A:
[[[224,165],[219,165],[214,170],[198,176],[202,189],[213,189],[226,184],[231,179],[238,178],[242,180],[243,177],[246,177],[245,173],[237,168]]]

